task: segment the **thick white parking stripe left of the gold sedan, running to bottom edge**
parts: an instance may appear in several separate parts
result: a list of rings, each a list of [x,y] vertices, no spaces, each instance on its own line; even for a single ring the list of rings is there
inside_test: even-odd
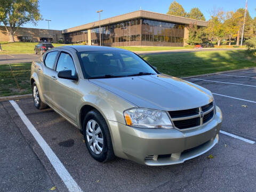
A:
[[[65,166],[61,163],[60,159],[54,154],[54,152],[52,151],[50,146],[46,143],[46,141],[43,139],[41,134],[38,133],[34,125],[29,121],[27,116],[20,109],[19,105],[13,100],[11,100],[10,103],[13,106],[13,108],[17,111],[21,120],[27,126],[28,130],[33,135],[38,145],[43,149],[45,155],[51,162],[52,166],[54,167],[55,171],[58,173],[59,177],[65,183],[68,190],[70,192],[76,192],[76,191],[82,192],[82,189],[77,185],[76,181],[71,177],[71,175],[69,174]]]

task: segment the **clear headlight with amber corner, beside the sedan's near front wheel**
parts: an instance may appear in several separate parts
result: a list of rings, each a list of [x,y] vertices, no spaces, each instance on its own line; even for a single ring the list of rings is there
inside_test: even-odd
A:
[[[172,129],[172,122],[164,111],[133,108],[124,111],[126,125],[138,128]]]

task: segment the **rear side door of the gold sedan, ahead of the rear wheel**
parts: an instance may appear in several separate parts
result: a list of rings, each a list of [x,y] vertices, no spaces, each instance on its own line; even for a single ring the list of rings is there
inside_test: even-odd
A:
[[[52,73],[55,71],[55,61],[57,59],[59,51],[51,51],[44,56],[44,67],[43,71],[39,71],[38,79],[41,85],[41,92],[45,101],[49,104],[52,103],[50,98],[50,80]]]

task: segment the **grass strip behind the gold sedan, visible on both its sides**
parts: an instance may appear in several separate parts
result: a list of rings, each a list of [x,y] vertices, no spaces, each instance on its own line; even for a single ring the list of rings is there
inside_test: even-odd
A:
[[[205,51],[142,55],[162,73],[186,77],[220,71],[256,67],[256,51]],[[11,73],[17,79],[18,86]],[[29,76],[31,63],[0,65],[0,97],[31,93]]]

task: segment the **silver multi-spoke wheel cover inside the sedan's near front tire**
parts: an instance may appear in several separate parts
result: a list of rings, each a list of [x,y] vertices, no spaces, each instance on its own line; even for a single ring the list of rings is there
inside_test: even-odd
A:
[[[99,124],[91,119],[86,124],[86,138],[94,154],[100,154],[103,149],[103,135]]]

